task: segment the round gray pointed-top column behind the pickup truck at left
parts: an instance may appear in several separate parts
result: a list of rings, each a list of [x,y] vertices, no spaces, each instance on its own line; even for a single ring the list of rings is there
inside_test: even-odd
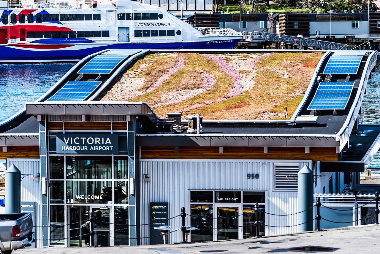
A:
[[[21,171],[13,164],[5,171],[5,213],[20,213]]]

